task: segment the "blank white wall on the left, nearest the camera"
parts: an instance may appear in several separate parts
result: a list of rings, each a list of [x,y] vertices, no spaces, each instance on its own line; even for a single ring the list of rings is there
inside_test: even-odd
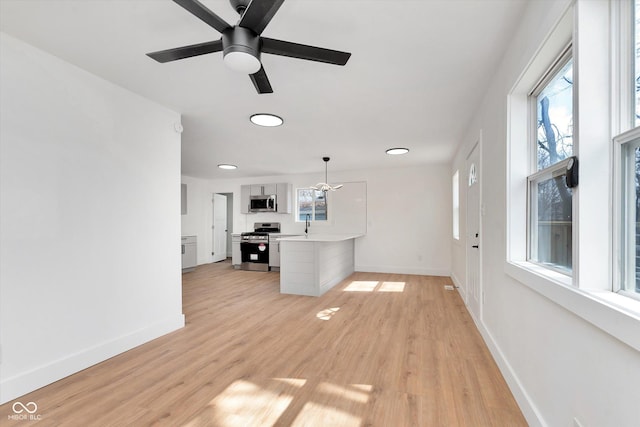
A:
[[[0,35],[0,401],[184,325],[180,116]]]

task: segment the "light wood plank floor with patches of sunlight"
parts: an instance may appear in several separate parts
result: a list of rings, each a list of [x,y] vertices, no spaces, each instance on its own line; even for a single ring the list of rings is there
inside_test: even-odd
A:
[[[183,280],[185,328],[18,399],[28,425],[526,425],[447,278],[355,273],[320,298],[229,262]]]

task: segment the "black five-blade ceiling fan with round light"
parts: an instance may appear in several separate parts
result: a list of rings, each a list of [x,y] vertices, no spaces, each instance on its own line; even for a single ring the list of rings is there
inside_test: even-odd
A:
[[[164,63],[222,51],[227,66],[249,74],[258,93],[273,93],[267,73],[260,62],[261,53],[335,65],[346,64],[351,56],[348,52],[262,37],[260,34],[284,0],[229,0],[240,14],[240,20],[233,26],[198,0],[173,1],[213,27],[222,37],[215,41],[147,53],[147,56]]]

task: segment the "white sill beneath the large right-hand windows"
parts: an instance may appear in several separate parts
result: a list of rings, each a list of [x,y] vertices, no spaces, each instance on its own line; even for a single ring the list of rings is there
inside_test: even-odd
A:
[[[574,287],[571,278],[528,262],[506,262],[505,273],[540,295],[640,351],[640,301]]]

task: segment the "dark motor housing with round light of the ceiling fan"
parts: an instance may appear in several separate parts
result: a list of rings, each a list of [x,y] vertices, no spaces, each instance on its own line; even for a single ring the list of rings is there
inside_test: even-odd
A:
[[[222,33],[223,58],[234,70],[254,74],[260,70],[260,37],[248,28],[231,27]]]

